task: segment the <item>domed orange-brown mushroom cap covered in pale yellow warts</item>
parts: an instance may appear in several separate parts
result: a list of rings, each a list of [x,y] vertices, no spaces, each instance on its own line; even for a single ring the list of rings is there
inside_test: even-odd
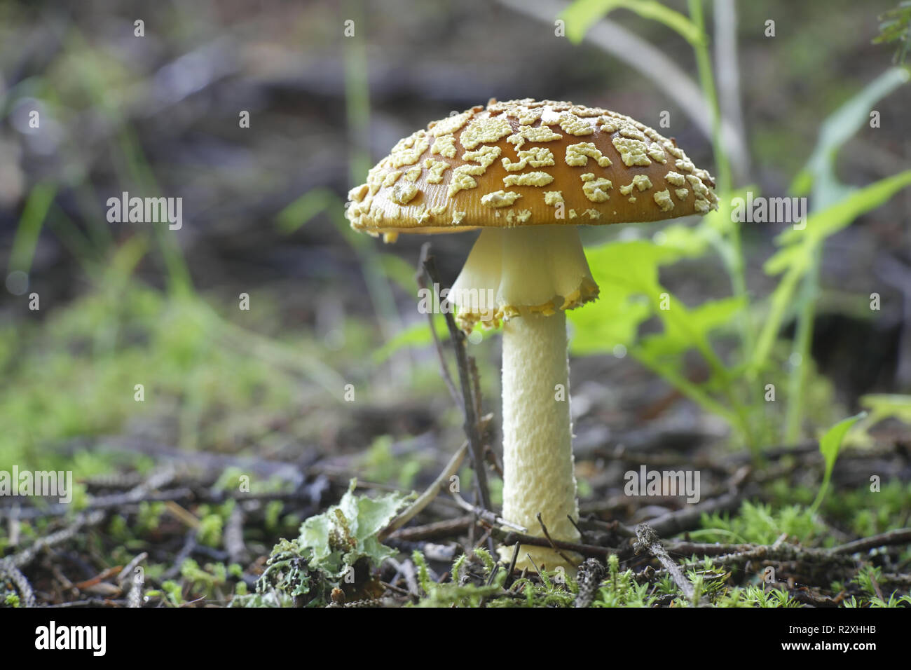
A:
[[[346,215],[374,235],[650,222],[717,209],[714,185],[674,139],[630,117],[491,99],[399,141],[349,192]]]

